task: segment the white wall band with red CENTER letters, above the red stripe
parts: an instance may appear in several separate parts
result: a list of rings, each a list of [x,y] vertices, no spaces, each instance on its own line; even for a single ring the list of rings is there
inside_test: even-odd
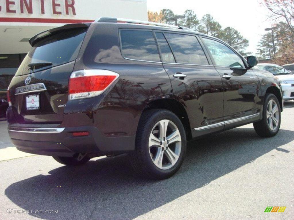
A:
[[[21,6],[22,1],[28,3],[29,10],[25,4]],[[44,14],[41,10],[42,2]],[[146,2],[147,0],[31,0],[32,4],[29,4],[30,0],[1,0],[0,18],[95,20],[98,17],[118,17],[147,20]],[[66,8],[69,9],[68,14]]]

